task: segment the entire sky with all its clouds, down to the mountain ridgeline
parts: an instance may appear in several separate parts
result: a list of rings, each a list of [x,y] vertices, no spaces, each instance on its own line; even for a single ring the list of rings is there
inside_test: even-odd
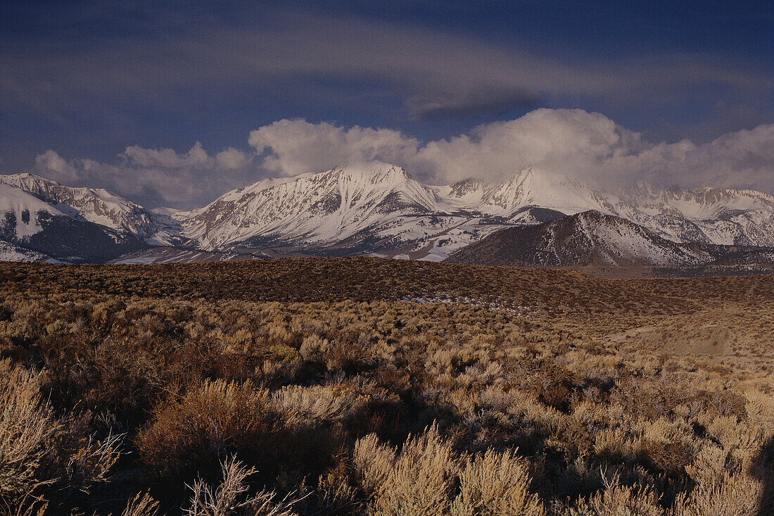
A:
[[[772,2],[17,2],[0,173],[195,208],[352,160],[774,194]]]

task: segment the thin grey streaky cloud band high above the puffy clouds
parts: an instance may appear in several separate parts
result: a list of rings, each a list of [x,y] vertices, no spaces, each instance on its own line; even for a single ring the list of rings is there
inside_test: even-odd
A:
[[[741,67],[711,53],[577,59],[543,55],[527,41],[497,43],[459,31],[303,9],[268,9],[259,19],[199,20],[195,30],[130,32],[87,46],[78,38],[56,45],[0,40],[0,50],[8,50],[0,51],[0,104],[65,111],[84,105],[84,98],[100,98],[91,104],[104,107],[105,95],[111,101],[176,104],[185,88],[222,92],[262,84],[305,95],[310,84],[328,79],[387,84],[406,115],[428,119],[530,108],[546,96],[631,101],[637,95],[663,102],[670,99],[661,95],[664,88],[684,92],[694,91],[690,85],[715,84],[756,98],[767,98],[774,88],[765,68]]]

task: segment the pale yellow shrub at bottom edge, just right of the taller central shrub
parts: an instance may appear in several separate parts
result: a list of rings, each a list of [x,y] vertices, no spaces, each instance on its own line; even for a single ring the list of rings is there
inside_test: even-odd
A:
[[[487,450],[467,459],[460,473],[460,494],[452,504],[453,516],[543,516],[543,504],[529,493],[526,463],[510,451]]]

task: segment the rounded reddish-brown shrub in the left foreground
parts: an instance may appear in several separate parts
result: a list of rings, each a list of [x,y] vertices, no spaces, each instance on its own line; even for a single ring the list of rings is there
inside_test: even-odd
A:
[[[212,471],[228,452],[255,459],[272,431],[268,400],[249,381],[206,380],[161,404],[137,447],[150,470],[169,476]]]

